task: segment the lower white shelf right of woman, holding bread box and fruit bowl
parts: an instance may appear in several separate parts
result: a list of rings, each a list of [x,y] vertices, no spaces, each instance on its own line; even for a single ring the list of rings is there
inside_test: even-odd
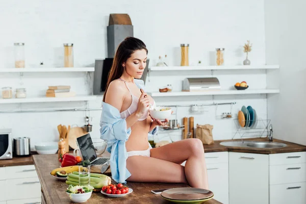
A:
[[[158,96],[197,96],[197,95],[238,95],[238,94],[261,94],[261,93],[279,93],[279,89],[250,89],[250,90],[213,90],[213,91],[194,91],[194,92],[151,92],[152,97]]]

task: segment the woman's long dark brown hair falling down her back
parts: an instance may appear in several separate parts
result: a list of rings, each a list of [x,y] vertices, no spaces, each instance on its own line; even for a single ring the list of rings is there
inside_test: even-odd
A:
[[[126,62],[126,60],[129,59],[136,50],[141,49],[146,50],[146,53],[148,54],[145,44],[141,40],[134,37],[127,37],[119,44],[115,53],[112,68],[108,75],[107,85],[103,96],[104,102],[110,83],[116,79],[119,79],[123,74],[124,68],[122,67],[122,64]]]

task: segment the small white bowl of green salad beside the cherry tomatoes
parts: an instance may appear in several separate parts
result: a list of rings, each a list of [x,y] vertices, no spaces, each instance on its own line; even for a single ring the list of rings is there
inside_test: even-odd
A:
[[[72,202],[85,202],[91,197],[92,190],[92,186],[73,186],[70,184],[66,193]]]

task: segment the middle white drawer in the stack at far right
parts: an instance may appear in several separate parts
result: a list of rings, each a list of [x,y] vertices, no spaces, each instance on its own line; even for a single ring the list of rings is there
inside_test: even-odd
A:
[[[306,182],[306,163],[270,166],[270,185]]]

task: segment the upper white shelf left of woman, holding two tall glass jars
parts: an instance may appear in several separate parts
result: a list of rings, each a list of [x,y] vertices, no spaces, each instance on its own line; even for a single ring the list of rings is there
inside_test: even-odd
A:
[[[94,67],[53,67],[53,68],[0,68],[0,72],[82,72],[94,71]]]

